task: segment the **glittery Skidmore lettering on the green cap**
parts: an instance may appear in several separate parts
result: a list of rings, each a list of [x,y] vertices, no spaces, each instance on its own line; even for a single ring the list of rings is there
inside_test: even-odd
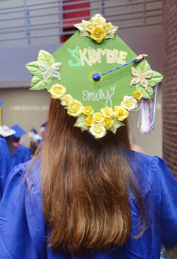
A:
[[[117,63],[124,65],[126,64],[127,52],[122,50],[109,50],[109,49],[92,49],[91,47],[84,48],[81,50],[78,46],[76,46],[75,50],[71,50],[70,48],[67,51],[71,54],[72,57],[75,58],[75,62],[72,60],[68,60],[68,64],[70,66],[85,66],[85,63],[89,66],[95,64],[96,62],[101,63],[102,56],[106,57],[107,64]],[[106,54],[106,55],[105,55]]]

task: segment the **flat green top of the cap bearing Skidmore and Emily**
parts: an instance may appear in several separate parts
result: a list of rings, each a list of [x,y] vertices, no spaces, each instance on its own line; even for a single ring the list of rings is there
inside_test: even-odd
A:
[[[93,80],[92,75],[128,63],[136,56],[117,35],[115,39],[97,43],[91,38],[79,37],[78,31],[53,53],[55,62],[62,65],[60,82],[53,78],[51,86],[60,83],[66,87],[66,94],[83,106],[91,106],[94,112],[107,106],[113,108],[121,104],[125,95],[132,95],[135,91],[135,87],[130,87],[132,64],[101,76],[99,81]]]

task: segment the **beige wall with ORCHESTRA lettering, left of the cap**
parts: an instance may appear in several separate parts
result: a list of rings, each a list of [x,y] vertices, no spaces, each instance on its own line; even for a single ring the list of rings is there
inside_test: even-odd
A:
[[[10,127],[19,124],[25,131],[34,127],[40,130],[41,124],[46,120],[50,94],[46,90],[32,91],[28,88],[0,89],[2,124]],[[28,146],[27,134],[20,142]]]

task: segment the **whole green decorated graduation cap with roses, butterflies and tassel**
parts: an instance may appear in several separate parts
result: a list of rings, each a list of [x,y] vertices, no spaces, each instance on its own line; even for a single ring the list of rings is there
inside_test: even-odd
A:
[[[149,133],[163,76],[151,70],[147,55],[137,56],[115,34],[118,27],[100,14],[74,26],[78,31],[53,55],[40,50],[38,61],[26,65],[33,75],[31,89],[46,88],[76,118],[74,126],[96,139],[107,131],[115,133],[129,111],[139,109],[140,131]]]

